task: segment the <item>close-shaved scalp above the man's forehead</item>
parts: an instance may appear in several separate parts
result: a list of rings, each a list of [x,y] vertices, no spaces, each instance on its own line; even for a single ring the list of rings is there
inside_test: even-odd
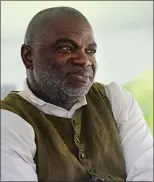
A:
[[[25,34],[24,43],[39,41],[46,34],[48,28],[55,29],[58,23],[69,24],[68,21],[84,21],[88,25],[86,17],[78,10],[70,7],[54,7],[38,12],[30,21]]]

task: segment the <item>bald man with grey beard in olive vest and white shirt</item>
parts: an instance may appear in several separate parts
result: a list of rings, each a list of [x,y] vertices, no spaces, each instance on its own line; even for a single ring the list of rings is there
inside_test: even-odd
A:
[[[97,45],[68,7],[28,25],[24,90],[1,102],[4,181],[152,181],[153,137],[134,98],[94,83]],[[95,178],[95,179],[94,179]]]

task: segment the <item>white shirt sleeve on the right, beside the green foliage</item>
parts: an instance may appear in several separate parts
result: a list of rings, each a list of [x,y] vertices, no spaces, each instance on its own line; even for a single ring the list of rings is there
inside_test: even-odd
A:
[[[125,159],[127,181],[153,181],[153,136],[133,96],[112,82],[105,86]]]

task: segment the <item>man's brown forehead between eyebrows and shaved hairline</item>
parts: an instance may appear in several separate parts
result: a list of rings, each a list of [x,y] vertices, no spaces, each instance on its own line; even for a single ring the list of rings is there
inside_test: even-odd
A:
[[[59,38],[69,38],[78,44],[94,42],[93,30],[88,22],[83,19],[73,20],[65,18],[54,25],[43,28],[39,39],[43,42],[54,42]]]

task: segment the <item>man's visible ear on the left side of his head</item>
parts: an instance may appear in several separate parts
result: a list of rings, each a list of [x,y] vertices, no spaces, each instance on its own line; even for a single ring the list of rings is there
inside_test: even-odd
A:
[[[21,46],[21,57],[27,69],[33,69],[32,48],[29,45],[23,44]]]

